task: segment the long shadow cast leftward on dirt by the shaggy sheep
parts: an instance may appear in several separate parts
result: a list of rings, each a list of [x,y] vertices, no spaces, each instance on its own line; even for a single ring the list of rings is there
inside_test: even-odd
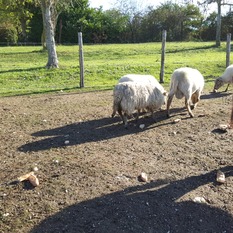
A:
[[[166,112],[158,111],[156,114],[156,123],[166,119]],[[33,137],[42,137],[42,139],[22,145],[18,150],[23,152],[42,151],[51,148],[97,142],[139,133],[142,131],[139,128],[140,124],[145,124],[144,131],[149,130],[148,127],[154,123],[152,117],[143,117],[137,123],[134,120],[130,121],[128,129],[125,129],[119,117],[79,122],[33,133]],[[169,124],[169,122],[166,124]],[[68,143],[66,144],[65,142]]]

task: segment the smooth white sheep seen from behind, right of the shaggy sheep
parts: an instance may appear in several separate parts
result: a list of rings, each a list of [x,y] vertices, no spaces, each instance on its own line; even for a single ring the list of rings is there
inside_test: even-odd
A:
[[[176,69],[171,76],[170,92],[167,100],[167,116],[170,117],[170,105],[175,95],[177,99],[185,97],[185,106],[191,117],[194,117],[191,109],[194,109],[200,100],[204,88],[202,74],[193,68],[182,67]]]

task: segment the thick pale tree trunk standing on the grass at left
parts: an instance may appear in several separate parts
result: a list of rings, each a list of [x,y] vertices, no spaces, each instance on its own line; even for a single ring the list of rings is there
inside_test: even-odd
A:
[[[58,68],[58,59],[56,52],[56,45],[54,39],[54,29],[51,19],[51,1],[41,0],[42,14],[44,14],[44,28],[45,28],[45,39],[46,47],[48,50],[48,62],[47,68]]]

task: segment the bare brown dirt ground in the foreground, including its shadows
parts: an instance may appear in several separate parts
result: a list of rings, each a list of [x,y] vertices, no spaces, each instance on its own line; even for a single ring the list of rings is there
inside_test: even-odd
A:
[[[128,129],[112,91],[1,98],[0,232],[233,232],[232,92],[205,90],[194,118],[174,98],[171,118]],[[33,169],[39,186],[15,182]]]

